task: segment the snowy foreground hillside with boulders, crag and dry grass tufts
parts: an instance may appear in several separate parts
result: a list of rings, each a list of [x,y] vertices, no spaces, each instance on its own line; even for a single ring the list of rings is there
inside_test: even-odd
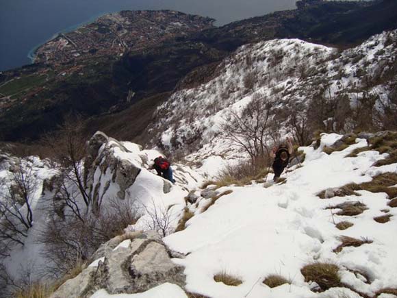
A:
[[[142,151],[101,133],[91,138],[89,147],[92,208],[99,199],[103,212],[113,212],[117,198],[123,211],[118,209],[112,221],[124,216],[124,208],[140,210],[140,216],[127,234],[86,256],[82,273],[60,286],[53,298],[395,297],[397,243],[390,236],[397,215],[395,133],[322,134],[311,146],[299,148],[305,160],[292,163],[279,184],[269,183],[272,173],[242,184],[203,184],[211,169],[174,164],[177,184],[171,186],[146,170],[158,151]],[[213,157],[205,160],[219,165]],[[8,166],[3,160],[0,171],[3,182],[14,171],[12,160],[6,161]],[[62,217],[73,209],[61,207],[62,184],[48,179],[56,173],[45,170],[49,164],[40,160],[27,162],[34,164],[40,185],[44,183],[34,193],[34,225],[27,242],[13,245],[5,264],[13,274],[23,266],[32,278],[40,278],[57,260],[45,258],[51,256],[51,242],[37,242],[40,230],[61,228],[62,239],[68,239],[78,229],[72,217]],[[51,205],[56,214],[48,209]],[[115,225],[106,222],[106,227]],[[142,229],[159,234],[138,232]],[[91,238],[84,235],[73,243],[89,249]],[[64,249],[62,243],[55,244]],[[153,250],[158,245],[166,251]],[[64,253],[59,260],[70,262]],[[46,281],[44,275],[41,282]]]

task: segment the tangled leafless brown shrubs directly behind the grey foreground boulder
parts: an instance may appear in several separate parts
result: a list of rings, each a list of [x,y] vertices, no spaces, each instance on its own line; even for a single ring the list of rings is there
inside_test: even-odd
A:
[[[131,199],[113,199],[106,207],[99,214],[70,212],[64,219],[52,214],[39,239],[44,243],[42,254],[51,260],[51,275],[60,276],[88,260],[102,243],[138,220]]]

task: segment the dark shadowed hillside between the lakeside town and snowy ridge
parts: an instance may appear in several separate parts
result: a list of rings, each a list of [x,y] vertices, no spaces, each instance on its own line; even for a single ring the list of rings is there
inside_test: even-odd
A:
[[[95,59],[77,59],[78,67],[74,63],[50,68],[45,64],[34,64],[5,72],[0,77],[3,83],[0,93],[4,95],[0,111],[1,139],[40,138],[44,132],[56,127],[54,123],[62,123],[72,111],[88,117],[103,115],[103,118],[95,117],[88,123],[91,133],[102,129],[112,135],[135,138],[142,135],[142,129],[136,127],[145,127],[150,123],[147,114],[167,97],[185,75],[197,67],[220,62],[241,45],[285,37],[346,45],[381,33],[383,29],[396,27],[394,1],[376,1],[373,6],[368,5],[357,1],[324,2],[203,32],[174,36],[155,47],[151,45],[126,51],[122,57],[101,55],[95,56]],[[363,13],[371,14],[366,20],[370,30],[364,32],[354,21]],[[343,27],[333,25],[339,23],[342,17],[352,20],[352,23],[344,23]],[[295,24],[293,28],[292,24]],[[346,30],[351,30],[348,32],[349,39],[344,38]],[[86,49],[88,52],[90,50]],[[205,67],[199,75],[203,79],[210,77],[211,70],[212,67]],[[17,77],[21,79],[15,79]],[[127,110],[128,114],[135,110],[133,105],[140,101],[153,108],[142,116],[138,113],[138,117],[129,118],[124,111]],[[120,125],[109,124],[121,118],[124,119],[122,123],[131,123],[125,127],[123,135]]]

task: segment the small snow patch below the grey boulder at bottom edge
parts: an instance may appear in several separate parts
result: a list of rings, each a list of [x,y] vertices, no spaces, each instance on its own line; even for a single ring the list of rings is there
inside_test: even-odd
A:
[[[107,294],[106,290],[98,290],[90,298],[188,298],[183,290],[170,283],[165,283],[150,290],[146,290],[144,293],[139,294]]]

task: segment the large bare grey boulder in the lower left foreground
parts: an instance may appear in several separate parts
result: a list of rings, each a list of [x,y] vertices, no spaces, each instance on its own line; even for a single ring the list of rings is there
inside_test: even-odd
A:
[[[141,293],[165,282],[185,286],[183,267],[172,263],[170,251],[153,231],[118,236],[94,256],[102,259],[62,284],[51,298],[90,297],[99,289],[110,294]]]

